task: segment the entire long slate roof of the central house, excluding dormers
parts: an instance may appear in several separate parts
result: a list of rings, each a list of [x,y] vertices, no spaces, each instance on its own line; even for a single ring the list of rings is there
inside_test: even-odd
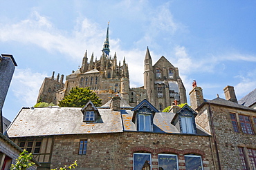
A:
[[[76,107],[23,108],[8,127],[7,134],[10,138],[13,138],[136,131],[136,125],[131,121],[134,111],[111,111],[111,109],[100,109],[99,107],[98,111],[103,123],[83,122],[81,108]],[[173,113],[156,113],[153,132],[182,134],[171,124],[174,115]],[[210,135],[199,125],[196,125],[196,130],[196,135]]]

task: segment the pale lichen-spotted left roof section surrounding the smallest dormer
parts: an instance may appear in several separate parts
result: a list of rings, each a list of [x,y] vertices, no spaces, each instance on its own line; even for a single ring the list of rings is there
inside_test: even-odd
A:
[[[120,111],[98,109],[103,123],[83,122],[82,108],[23,108],[7,129],[8,136],[47,136],[122,132]]]

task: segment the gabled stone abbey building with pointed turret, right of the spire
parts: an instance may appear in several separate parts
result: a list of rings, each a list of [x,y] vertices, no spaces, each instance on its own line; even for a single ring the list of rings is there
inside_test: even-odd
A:
[[[187,103],[185,87],[177,67],[164,56],[152,65],[148,48],[144,62],[144,88],[147,90],[150,103],[159,110],[172,105],[174,100],[177,100],[178,104]]]

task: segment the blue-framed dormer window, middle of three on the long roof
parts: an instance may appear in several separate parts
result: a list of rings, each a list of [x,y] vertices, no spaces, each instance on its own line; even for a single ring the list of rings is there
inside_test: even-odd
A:
[[[138,131],[154,131],[153,118],[156,112],[159,112],[146,99],[140,102],[134,109],[132,121],[135,123]]]

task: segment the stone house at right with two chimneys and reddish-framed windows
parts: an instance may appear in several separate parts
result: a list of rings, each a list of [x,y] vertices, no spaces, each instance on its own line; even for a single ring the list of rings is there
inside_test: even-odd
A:
[[[212,135],[216,169],[256,169],[256,109],[239,105],[234,87],[224,89],[226,99],[203,98],[201,87],[190,92],[196,122]]]

